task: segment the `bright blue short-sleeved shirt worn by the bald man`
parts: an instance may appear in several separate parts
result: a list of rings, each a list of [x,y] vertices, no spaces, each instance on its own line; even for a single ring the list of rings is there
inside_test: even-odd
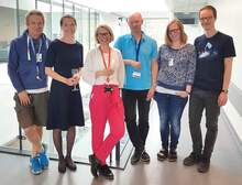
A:
[[[157,58],[156,41],[142,33],[139,44],[133,35],[127,34],[117,40],[114,47],[120,50],[123,59],[133,59],[141,63],[141,68],[125,65],[123,88],[131,90],[150,89],[152,84],[151,66],[152,62]],[[134,72],[141,74],[140,77],[133,77]]]

